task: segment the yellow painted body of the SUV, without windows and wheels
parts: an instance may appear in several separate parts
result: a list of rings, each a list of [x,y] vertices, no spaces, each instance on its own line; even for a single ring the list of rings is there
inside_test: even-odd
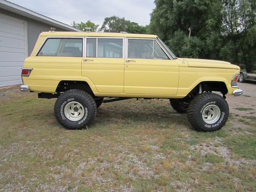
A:
[[[55,93],[61,80],[85,81],[95,96],[183,98],[203,81],[221,81],[228,94],[237,88],[231,80],[240,68],[229,62],[205,59],[131,59],[36,56],[47,37],[152,38],[156,35],[86,32],[44,32],[38,37],[24,68],[33,68],[23,77],[30,91]],[[84,59],[88,59],[84,61]],[[91,59],[91,60],[89,60]]]

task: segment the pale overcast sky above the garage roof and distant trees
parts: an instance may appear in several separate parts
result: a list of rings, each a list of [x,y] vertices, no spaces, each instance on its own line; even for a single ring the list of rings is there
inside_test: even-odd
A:
[[[119,16],[139,25],[150,24],[154,0],[8,0],[68,25],[91,20],[102,25],[105,17]]]

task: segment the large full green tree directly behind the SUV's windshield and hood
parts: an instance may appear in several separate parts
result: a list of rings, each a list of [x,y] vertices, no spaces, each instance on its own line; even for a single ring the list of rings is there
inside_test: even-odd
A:
[[[177,55],[212,58],[212,52],[221,48],[221,0],[155,0],[155,4],[150,31],[171,48],[175,44]]]

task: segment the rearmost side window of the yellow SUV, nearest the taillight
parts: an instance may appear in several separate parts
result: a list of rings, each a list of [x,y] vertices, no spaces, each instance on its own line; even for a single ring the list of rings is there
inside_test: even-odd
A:
[[[82,38],[48,38],[37,56],[82,57]]]

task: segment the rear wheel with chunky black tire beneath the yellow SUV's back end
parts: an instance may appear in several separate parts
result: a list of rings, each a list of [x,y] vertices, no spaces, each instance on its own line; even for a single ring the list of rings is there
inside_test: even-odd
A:
[[[82,129],[92,123],[97,107],[93,97],[82,90],[72,89],[62,93],[55,102],[54,114],[67,129]]]

